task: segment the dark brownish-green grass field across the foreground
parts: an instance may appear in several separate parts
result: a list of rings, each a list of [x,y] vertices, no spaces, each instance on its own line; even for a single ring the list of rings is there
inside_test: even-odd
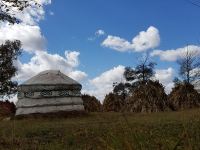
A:
[[[200,109],[0,122],[0,149],[200,149]]]

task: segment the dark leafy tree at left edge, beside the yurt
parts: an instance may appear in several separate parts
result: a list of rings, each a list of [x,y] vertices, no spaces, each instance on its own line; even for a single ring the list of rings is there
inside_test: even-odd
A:
[[[21,42],[6,41],[0,46],[0,95],[6,97],[15,94],[17,82],[11,80],[15,76],[17,68],[13,61],[21,54]]]

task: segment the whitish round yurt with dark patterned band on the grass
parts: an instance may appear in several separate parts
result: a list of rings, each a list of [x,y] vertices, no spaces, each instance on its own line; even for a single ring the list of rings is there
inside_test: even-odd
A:
[[[81,84],[59,70],[47,70],[18,86],[16,115],[84,111]]]

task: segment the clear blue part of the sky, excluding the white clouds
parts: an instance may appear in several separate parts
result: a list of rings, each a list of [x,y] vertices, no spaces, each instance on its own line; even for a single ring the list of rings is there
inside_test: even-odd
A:
[[[63,55],[66,49],[80,51],[80,68],[95,77],[118,64],[134,66],[141,53],[121,53],[100,44],[105,36],[88,41],[98,29],[131,40],[149,26],[160,32],[156,49],[175,49],[200,40],[200,8],[185,0],[59,0],[46,7],[40,22],[47,49]],[[171,63],[160,62],[158,68]]]

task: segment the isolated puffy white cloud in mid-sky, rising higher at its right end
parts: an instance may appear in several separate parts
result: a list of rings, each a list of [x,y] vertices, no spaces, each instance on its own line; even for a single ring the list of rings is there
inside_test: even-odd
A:
[[[118,36],[108,35],[101,45],[120,52],[141,52],[150,48],[155,48],[159,44],[159,31],[157,28],[150,26],[147,31],[141,31],[137,36],[135,36],[131,42]]]

